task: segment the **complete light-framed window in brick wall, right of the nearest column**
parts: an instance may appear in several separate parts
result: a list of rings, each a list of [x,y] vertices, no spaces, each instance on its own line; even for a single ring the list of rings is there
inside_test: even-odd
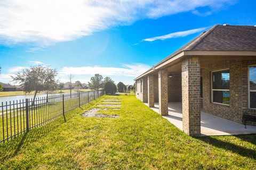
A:
[[[212,103],[229,105],[229,70],[212,72]]]

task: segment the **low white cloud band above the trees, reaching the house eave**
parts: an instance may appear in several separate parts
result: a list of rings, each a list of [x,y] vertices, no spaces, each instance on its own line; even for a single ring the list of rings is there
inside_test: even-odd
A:
[[[125,77],[136,77],[139,74],[147,71],[150,66],[145,64],[124,64],[124,67],[102,67],[102,66],[83,66],[83,67],[63,67],[59,73],[60,75],[117,75]]]

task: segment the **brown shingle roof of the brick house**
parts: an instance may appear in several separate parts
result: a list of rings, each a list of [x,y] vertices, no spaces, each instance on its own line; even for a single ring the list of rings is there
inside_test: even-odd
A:
[[[256,51],[256,27],[250,25],[214,25],[155,66],[186,50]]]

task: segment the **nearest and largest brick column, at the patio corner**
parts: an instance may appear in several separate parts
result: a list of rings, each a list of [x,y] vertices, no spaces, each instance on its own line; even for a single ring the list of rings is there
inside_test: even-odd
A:
[[[182,124],[188,135],[201,134],[200,58],[187,57],[182,61]]]

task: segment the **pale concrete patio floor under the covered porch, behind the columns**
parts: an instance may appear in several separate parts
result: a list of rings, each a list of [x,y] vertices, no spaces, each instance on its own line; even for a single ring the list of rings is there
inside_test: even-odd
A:
[[[147,103],[145,103],[148,105]],[[152,108],[159,113],[159,105],[155,103]],[[177,128],[182,130],[182,104],[181,102],[169,103],[169,115],[163,116]],[[256,133],[256,126],[246,125],[229,121],[225,118],[201,112],[201,134],[202,135],[232,135]]]

